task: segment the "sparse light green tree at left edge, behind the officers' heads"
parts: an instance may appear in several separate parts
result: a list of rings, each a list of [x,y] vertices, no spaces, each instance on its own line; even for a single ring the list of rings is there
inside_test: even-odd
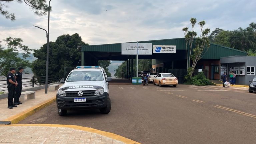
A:
[[[4,47],[1,46],[0,41],[0,75],[6,76],[10,67],[18,68],[22,66],[26,68],[30,66],[26,58],[29,57],[32,49],[23,45],[22,39],[8,37],[3,41],[5,42]],[[19,53],[22,53],[22,58],[18,57]]]

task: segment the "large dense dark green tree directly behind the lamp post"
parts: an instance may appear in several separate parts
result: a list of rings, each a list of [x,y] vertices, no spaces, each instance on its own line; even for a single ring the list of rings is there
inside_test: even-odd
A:
[[[60,75],[65,77],[65,67],[81,65],[81,50],[78,46],[88,45],[82,41],[78,33],[61,35],[55,42],[49,43],[49,76]],[[37,59],[32,63],[32,71],[36,76],[45,76],[46,48],[44,44],[40,49],[34,50]]]

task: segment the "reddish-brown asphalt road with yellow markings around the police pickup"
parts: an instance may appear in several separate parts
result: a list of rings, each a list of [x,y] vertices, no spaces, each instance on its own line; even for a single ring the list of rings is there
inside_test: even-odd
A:
[[[115,133],[142,144],[255,144],[256,94],[248,88],[153,84],[110,85],[111,112],[69,111],[56,104],[20,124],[69,124]]]

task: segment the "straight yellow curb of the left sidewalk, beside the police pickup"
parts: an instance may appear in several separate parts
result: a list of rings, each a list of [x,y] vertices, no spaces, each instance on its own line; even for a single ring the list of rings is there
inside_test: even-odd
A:
[[[19,114],[16,114],[14,116],[11,116],[11,117],[5,119],[4,121],[10,121],[11,124],[16,124],[16,123],[20,122],[21,120],[31,116],[35,112],[39,111],[43,107],[50,105],[54,101],[56,101],[56,97],[48,99],[48,100],[44,101],[43,103],[37,104],[25,111],[20,112]]]

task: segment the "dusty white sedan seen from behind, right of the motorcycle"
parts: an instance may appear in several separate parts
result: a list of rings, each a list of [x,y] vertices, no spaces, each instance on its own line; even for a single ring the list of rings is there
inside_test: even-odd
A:
[[[160,87],[163,85],[173,85],[173,87],[176,87],[178,85],[178,79],[171,73],[160,73],[155,76],[153,84],[158,84]]]

